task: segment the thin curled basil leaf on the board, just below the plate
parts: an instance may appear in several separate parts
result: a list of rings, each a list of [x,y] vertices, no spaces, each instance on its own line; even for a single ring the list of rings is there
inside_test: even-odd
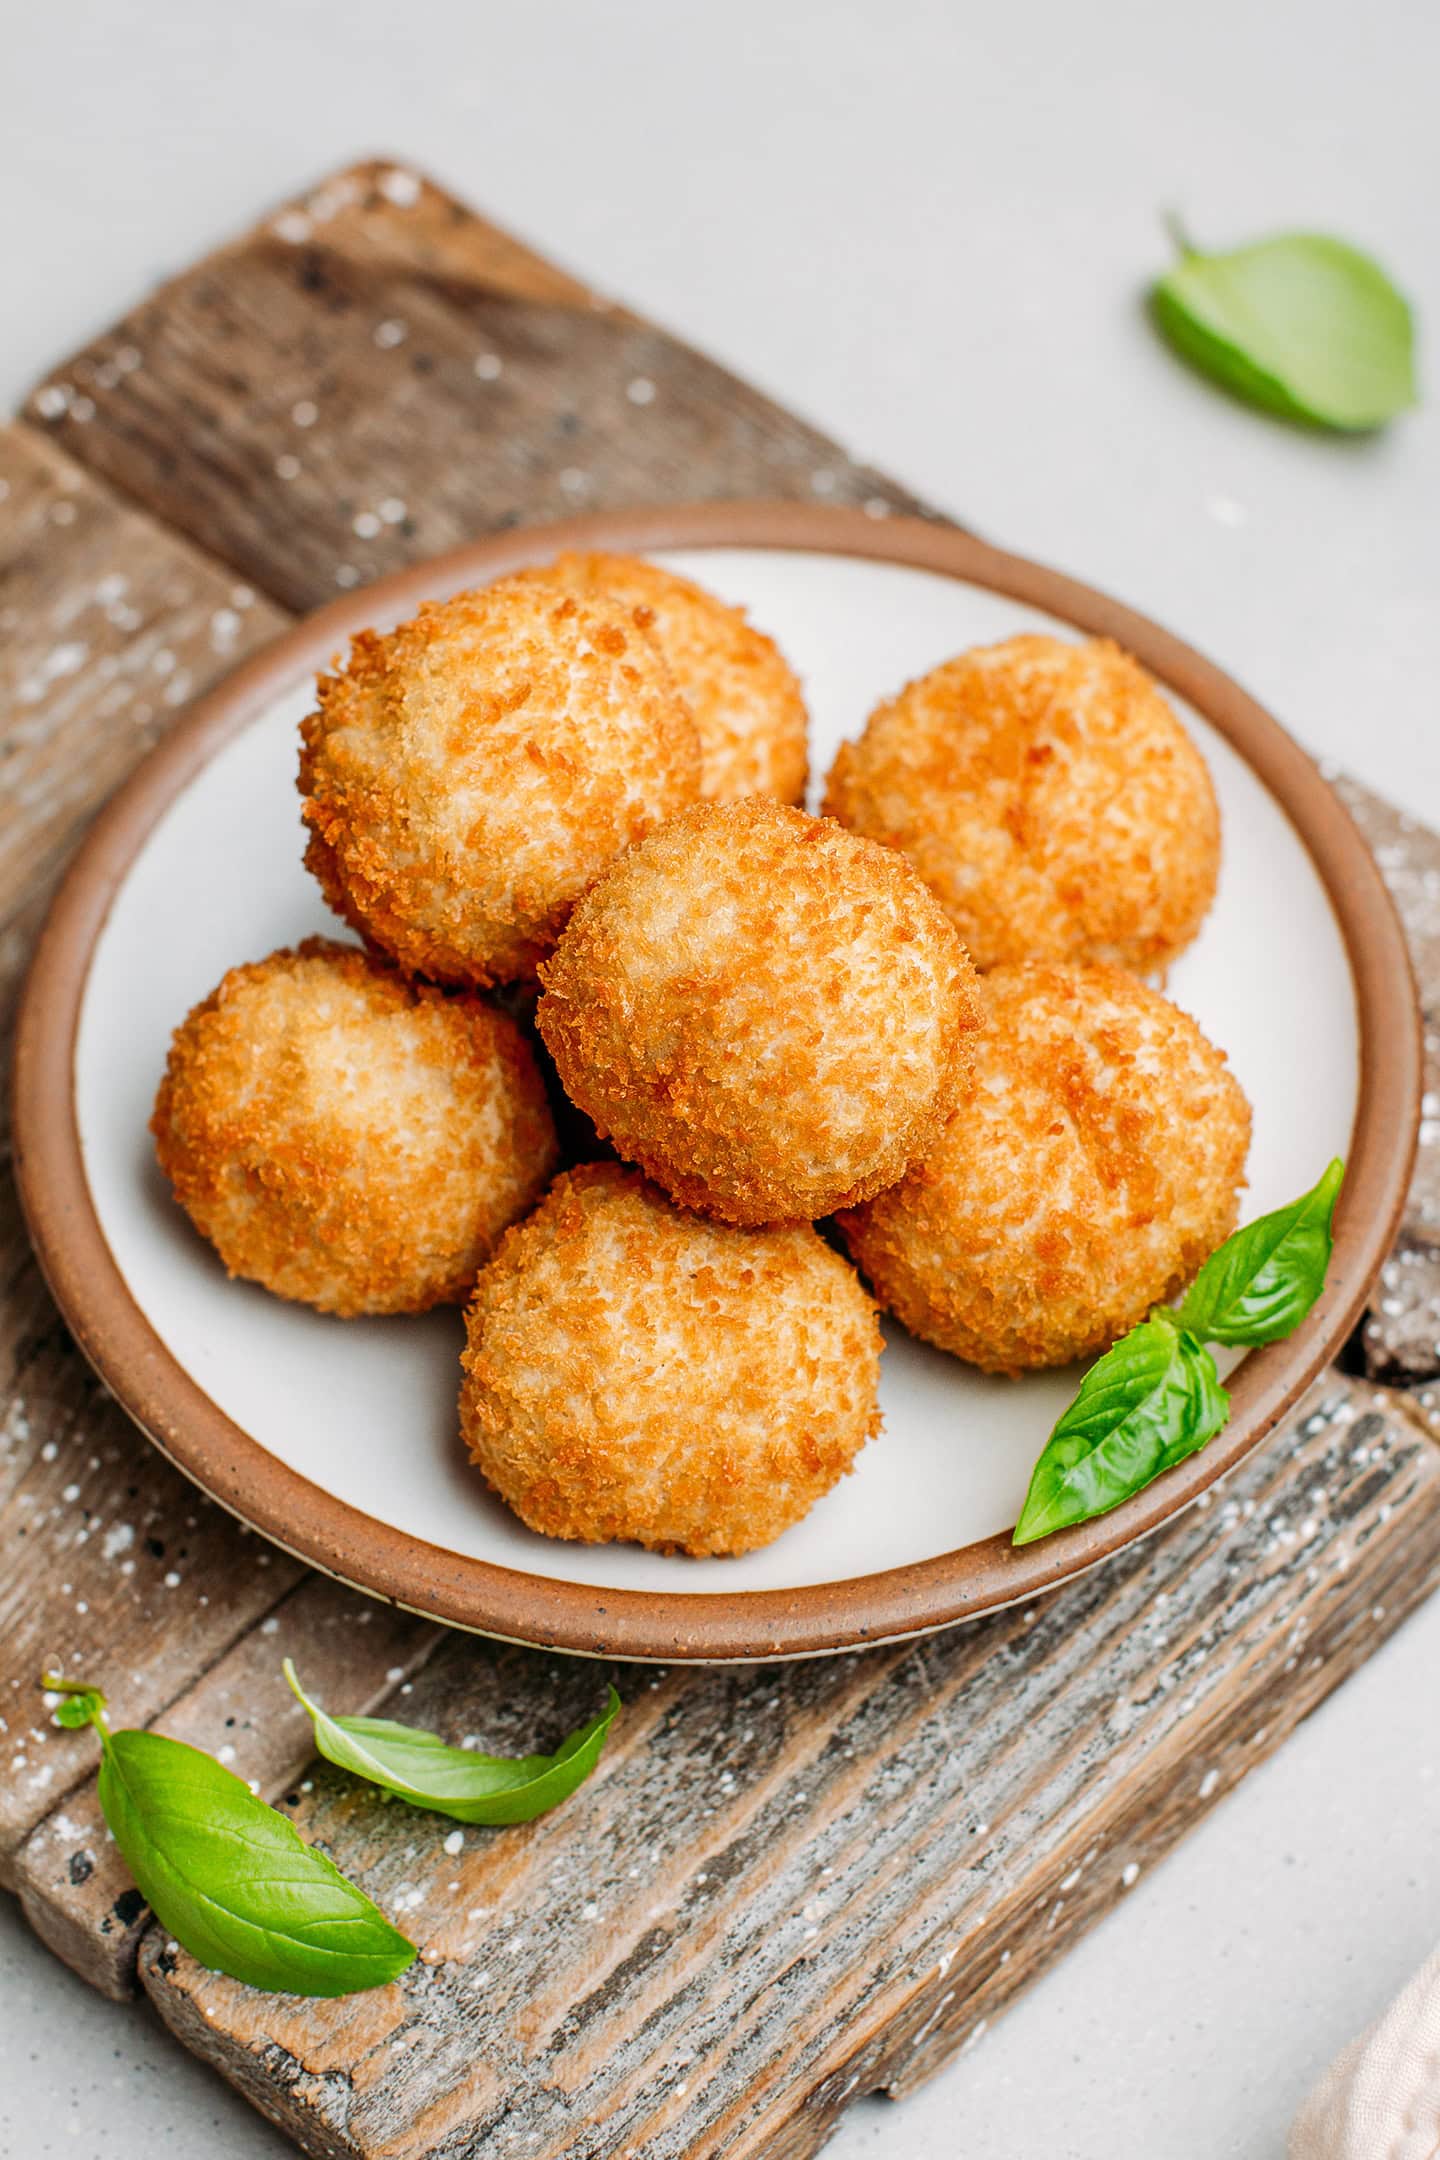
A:
[[[289,1659],[285,1678],[311,1713],[315,1745],[326,1763],[458,1823],[529,1823],[568,1799],[600,1760],[620,1709],[611,1687],[600,1715],[579,1726],[555,1754],[481,1756],[471,1747],[447,1747],[438,1732],[389,1717],[330,1717],[304,1693]]]

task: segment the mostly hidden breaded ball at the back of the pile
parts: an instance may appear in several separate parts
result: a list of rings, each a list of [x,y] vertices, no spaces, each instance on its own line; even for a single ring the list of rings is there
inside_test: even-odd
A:
[[[708,801],[775,795],[803,801],[807,775],[805,700],[779,646],[741,607],[637,555],[557,555],[533,577],[568,592],[607,592],[635,611],[661,648],[699,728]]]

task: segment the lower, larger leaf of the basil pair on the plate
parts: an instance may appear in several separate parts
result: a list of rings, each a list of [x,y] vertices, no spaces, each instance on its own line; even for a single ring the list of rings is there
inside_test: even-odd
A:
[[[1015,1544],[1118,1508],[1222,1430],[1231,1398],[1209,1350],[1157,1311],[1079,1382],[1034,1467]]]

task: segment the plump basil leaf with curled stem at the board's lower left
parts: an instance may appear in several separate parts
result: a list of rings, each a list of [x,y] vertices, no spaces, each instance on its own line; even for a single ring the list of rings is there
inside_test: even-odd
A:
[[[415,1961],[378,1905],[214,1756],[160,1732],[110,1732],[97,1689],[45,1685],[86,1704],[110,1834],[155,1918],[203,1966],[250,1987],[350,1996]]]

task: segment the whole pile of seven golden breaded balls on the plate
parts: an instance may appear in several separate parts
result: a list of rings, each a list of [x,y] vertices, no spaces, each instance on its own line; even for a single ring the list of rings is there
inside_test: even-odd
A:
[[[533,1529],[769,1544],[879,1430],[877,1305],[1064,1365],[1233,1229],[1246,1097],[1144,981],[1213,899],[1215,795],[1116,646],[935,667],[810,816],[775,644],[561,555],[361,633],[300,734],[363,944],[188,1015],[160,1164],[276,1296],[464,1302],[464,1441]]]

